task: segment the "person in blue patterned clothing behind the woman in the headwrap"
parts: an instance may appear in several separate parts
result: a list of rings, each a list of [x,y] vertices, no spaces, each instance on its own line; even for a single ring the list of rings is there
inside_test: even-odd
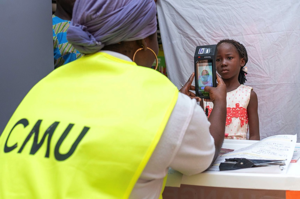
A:
[[[54,68],[72,62],[82,56],[67,41],[67,29],[72,19],[75,0],[56,0],[56,10],[52,15]]]

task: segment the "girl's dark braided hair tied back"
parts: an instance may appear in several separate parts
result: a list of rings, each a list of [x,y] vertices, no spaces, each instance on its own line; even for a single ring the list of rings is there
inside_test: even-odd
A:
[[[245,65],[247,64],[247,62],[248,62],[247,50],[241,43],[239,43],[235,40],[232,40],[232,39],[223,39],[217,44],[217,46],[219,46],[221,43],[232,44],[236,48],[236,50],[238,51],[239,56],[241,58],[245,59]],[[246,79],[246,74],[247,73],[242,70],[244,68],[244,66],[241,67],[240,73],[238,74],[238,82],[240,82],[240,84],[244,84],[247,81],[247,79]]]

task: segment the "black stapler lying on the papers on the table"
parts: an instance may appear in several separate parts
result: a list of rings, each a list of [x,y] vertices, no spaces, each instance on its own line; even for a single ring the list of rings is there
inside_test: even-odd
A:
[[[247,158],[229,158],[225,159],[225,162],[220,163],[219,169],[220,171],[229,171],[271,165],[279,165],[280,169],[282,170],[282,166],[285,165],[285,160],[254,160]]]

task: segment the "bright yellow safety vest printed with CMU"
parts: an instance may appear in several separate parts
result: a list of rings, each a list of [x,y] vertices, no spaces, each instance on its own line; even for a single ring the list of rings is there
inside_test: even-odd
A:
[[[0,136],[0,198],[128,198],[177,97],[164,75],[107,53],[54,70]]]

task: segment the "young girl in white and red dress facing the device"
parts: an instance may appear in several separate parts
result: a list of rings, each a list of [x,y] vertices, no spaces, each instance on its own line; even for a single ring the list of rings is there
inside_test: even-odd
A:
[[[260,140],[257,95],[244,85],[247,61],[247,51],[239,42],[224,39],[217,44],[216,68],[227,88],[226,139],[245,140],[249,125],[249,140]],[[213,103],[202,103],[209,117]]]

